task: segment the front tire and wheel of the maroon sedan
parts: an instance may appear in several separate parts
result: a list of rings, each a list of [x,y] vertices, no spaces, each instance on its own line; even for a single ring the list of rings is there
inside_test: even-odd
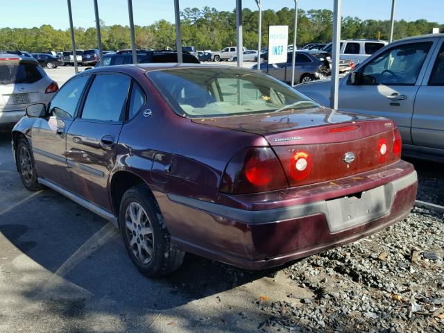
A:
[[[41,191],[45,187],[37,182],[37,171],[35,170],[35,162],[33,152],[28,144],[28,140],[24,137],[19,139],[17,144],[17,151],[15,153],[15,160],[17,161],[17,169],[20,173],[24,187],[28,191]]]

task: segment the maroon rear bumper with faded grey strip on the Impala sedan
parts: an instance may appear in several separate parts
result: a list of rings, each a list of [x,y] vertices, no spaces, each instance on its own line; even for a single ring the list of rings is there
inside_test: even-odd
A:
[[[336,197],[269,210],[241,210],[171,194],[158,199],[180,248],[234,266],[262,269],[350,243],[404,219],[417,187],[411,168],[407,175],[366,190],[373,194],[364,192],[361,199]]]

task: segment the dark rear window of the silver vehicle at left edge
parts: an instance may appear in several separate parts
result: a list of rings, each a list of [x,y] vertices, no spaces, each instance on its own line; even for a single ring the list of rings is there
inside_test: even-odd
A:
[[[0,62],[0,84],[34,83],[43,78],[44,71],[38,65],[17,61]]]

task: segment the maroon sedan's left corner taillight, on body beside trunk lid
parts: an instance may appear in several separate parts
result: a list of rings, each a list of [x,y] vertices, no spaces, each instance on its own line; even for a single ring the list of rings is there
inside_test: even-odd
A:
[[[238,151],[223,174],[221,191],[248,194],[288,187],[281,164],[269,147],[244,148]]]

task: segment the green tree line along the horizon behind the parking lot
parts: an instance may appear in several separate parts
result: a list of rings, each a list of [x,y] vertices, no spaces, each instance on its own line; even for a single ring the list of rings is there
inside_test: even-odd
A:
[[[205,7],[185,8],[181,15],[182,45],[196,46],[197,49],[219,50],[236,44],[236,17],[234,10],[218,11]],[[258,12],[244,8],[244,46],[257,48]],[[289,44],[293,40],[294,10],[287,7],[281,10],[262,12],[262,45],[266,46],[268,26],[288,25]],[[333,36],[333,12],[331,10],[298,10],[298,46],[309,42],[330,42]],[[128,26],[101,24],[101,36],[104,50],[130,48],[130,30]],[[388,40],[390,22],[388,20],[359,17],[342,18],[342,39],[370,38]],[[395,22],[393,38],[395,40],[413,35],[432,33],[432,28],[444,31],[444,24],[418,19],[413,22],[400,20]],[[96,28],[75,28],[78,49],[96,49]],[[148,26],[135,26],[138,49],[176,49],[175,24],[161,19]],[[55,29],[49,24],[40,28],[0,28],[0,49],[24,50],[31,52],[64,51],[71,49],[69,29]]]

